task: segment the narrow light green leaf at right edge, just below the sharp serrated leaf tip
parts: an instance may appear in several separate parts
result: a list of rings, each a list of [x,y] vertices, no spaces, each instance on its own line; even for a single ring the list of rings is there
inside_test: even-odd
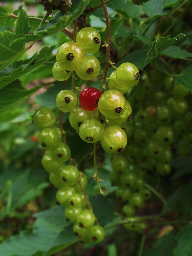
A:
[[[190,58],[192,58],[192,53],[182,50],[178,46],[170,46],[162,51],[161,54],[174,59],[190,60]]]

